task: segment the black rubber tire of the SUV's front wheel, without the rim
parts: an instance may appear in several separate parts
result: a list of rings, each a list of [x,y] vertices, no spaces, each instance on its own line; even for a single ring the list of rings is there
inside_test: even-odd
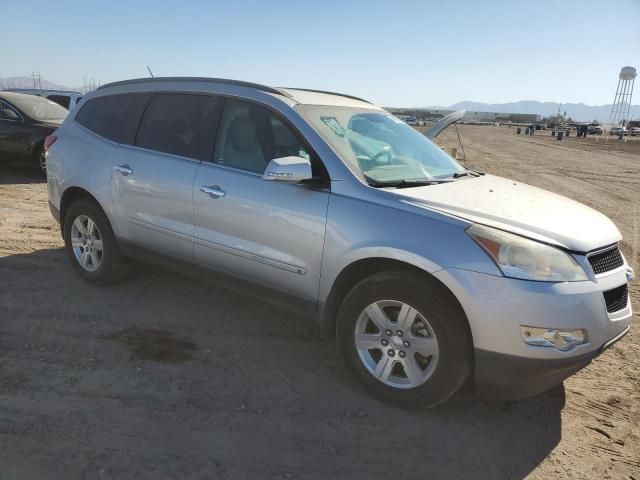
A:
[[[382,402],[405,409],[435,407],[449,399],[467,380],[472,370],[473,350],[468,323],[457,302],[443,290],[435,279],[390,271],[362,280],[342,302],[336,326],[340,354],[356,379]],[[397,300],[418,310],[437,338],[439,352],[435,369],[415,388],[396,388],[383,383],[369,372],[358,355],[355,346],[358,317],[369,305],[381,300]]]

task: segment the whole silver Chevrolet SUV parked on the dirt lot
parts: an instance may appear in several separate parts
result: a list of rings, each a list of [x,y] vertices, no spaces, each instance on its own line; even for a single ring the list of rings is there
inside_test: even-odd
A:
[[[267,288],[313,312],[355,378],[397,406],[471,380],[537,394],[629,330],[633,273],[608,218],[465,169],[359,98],[116,82],[47,146],[51,211],[82,278],[111,283],[144,258]]]

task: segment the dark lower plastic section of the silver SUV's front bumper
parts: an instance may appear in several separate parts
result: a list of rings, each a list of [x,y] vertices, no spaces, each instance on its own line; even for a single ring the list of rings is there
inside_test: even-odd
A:
[[[519,400],[542,393],[589,365],[628,332],[629,327],[597,350],[561,359],[531,359],[476,349],[476,393],[500,400]]]

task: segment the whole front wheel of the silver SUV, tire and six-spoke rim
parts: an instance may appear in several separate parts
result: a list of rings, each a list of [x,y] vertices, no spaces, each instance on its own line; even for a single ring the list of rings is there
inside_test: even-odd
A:
[[[467,380],[472,369],[468,323],[443,289],[423,275],[382,272],[355,285],[342,302],[336,325],[340,354],[378,400],[405,409],[431,408],[449,399]],[[371,320],[371,312],[378,322]],[[401,316],[413,320],[398,322]],[[381,321],[387,322],[392,335],[378,327]],[[372,349],[356,346],[356,330],[358,345]],[[381,368],[390,364],[392,368]],[[388,375],[386,380],[374,376],[380,370],[383,379]]]

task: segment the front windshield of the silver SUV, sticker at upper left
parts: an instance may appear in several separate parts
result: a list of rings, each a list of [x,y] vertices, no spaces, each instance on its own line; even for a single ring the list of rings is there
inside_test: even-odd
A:
[[[369,183],[449,178],[465,169],[384,110],[298,105],[298,112]]]

